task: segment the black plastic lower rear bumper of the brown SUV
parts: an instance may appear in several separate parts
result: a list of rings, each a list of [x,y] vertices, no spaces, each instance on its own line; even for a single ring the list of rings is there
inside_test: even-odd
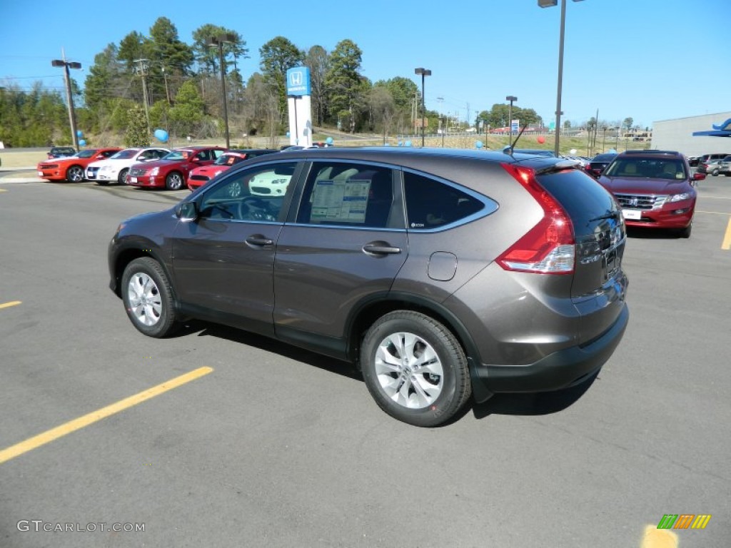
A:
[[[477,365],[472,381],[492,393],[550,392],[571,387],[602,368],[622,339],[628,322],[629,308],[624,305],[612,327],[591,343],[554,352],[529,365]]]

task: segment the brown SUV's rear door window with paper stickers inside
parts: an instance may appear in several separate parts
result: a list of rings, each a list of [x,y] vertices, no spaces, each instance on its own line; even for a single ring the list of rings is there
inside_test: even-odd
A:
[[[307,178],[297,221],[398,228],[403,227],[398,210],[393,199],[392,171],[387,167],[316,161]]]

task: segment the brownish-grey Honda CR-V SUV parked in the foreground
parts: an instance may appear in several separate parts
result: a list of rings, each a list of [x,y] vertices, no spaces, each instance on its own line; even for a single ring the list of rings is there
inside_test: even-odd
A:
[[[190,317],[267,335],[354,363],[388,414],[435,426],[596,373],[629,318],[625,239],[572,161],[307,149],[124,221],[110,287],[145,335]]]

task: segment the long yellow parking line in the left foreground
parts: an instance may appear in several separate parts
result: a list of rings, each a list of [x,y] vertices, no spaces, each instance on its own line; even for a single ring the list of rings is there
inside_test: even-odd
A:
[[[98,411],[92,411],[84,416],[80,416],[78,419],[73,419],[61,426],[46,430],[44,433],[34,435],[26,441],[21,441],[19,444],[12,445],[7,449],[0,451],[0,464],[18,457],[23,453],[37,449],[38,447],[48,444],[64,435],[75,432],[75,430],[94,424],[94,422],[105,419],[107,416],[124,411],[126,408],[136,406],[137,403],[143,403],[143,401],[149,400],[151,397],[159,396],[163,392],[180,387],[183,384],[194,381],[196,378],[208,375],[211,371],[213,371],[213,368],[198,368],[190,373],[186,373],[185,375],[172,378],[170,381],[158,384],[156,387],[148,388],[143,392],[126,397],[124,400],[119,400],[110,406],[99,409]]]

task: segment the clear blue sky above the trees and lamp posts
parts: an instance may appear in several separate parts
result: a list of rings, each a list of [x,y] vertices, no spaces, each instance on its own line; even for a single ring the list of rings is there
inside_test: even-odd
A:
[[[205,23],[238,31],[249,47],[244,80],[274,37],[327,51],[352,39],[373,82],[401,76],[421,85],[414,68],[431,69],[430,110],[474,120],[513,95],[546,123],[555,119],[560,1],[546,9],[536,0],[2,3],[0,85],[42,80],[63,90],[63,70],[50,66],[61,48],[88,69],[107,44],[147,34],[164,16],[188,43]],[[567,0],[562,119],[582,123],[598,109],[600,121],[651,126],[731,111],[730,20],[731,0]],[[73,76],[83,85],[86,72]]]

